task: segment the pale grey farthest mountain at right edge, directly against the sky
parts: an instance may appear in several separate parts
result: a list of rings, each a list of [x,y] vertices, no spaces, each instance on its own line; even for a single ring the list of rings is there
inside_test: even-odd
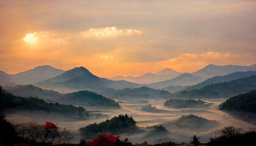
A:
[[[214,77],[216,75],[227,75],[233,72],[245,72],[245,71],[256,71],[256,64],[252,66],[235,66],[235,65],[226,65],[226,66],[216,66],[213,64],[209,64],[205,66],[203,69],[196,71],[193,75],[198,77],[202,77],[204,79]]]

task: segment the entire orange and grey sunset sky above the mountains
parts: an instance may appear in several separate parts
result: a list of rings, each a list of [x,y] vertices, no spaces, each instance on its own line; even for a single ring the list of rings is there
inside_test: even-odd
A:
[[[0,0],[0,71],[99,77],[256,63],[256,1]]]

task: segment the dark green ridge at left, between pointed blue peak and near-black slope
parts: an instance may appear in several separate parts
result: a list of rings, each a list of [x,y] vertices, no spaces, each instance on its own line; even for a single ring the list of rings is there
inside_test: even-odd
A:
[[[41,89],[33,85],[17,85],[15,87],[4,87],[4,89],[11,92],[15,96],[38,97],[40,99],[51,100],[52,102],[74,105],[95,106],[101,108],[119,108],[119,104],[114,100],[107,99],[106,97],[91,91],[60,94],[59,92]]]

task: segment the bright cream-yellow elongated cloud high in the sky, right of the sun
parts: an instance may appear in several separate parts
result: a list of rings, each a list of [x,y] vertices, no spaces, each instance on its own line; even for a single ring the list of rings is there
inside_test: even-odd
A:
[[[142,32],[140,30],[135,29],[118,29],[117,27],[102,27],[99,29],[91,28],[89,30],[85,30],[80,32],[83,37],[116,37],[116,36],[130,36],[130,35],[141,35]]]

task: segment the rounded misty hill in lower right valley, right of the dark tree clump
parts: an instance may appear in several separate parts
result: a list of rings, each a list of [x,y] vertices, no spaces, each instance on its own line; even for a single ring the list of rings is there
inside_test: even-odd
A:
[[[187,116],[181,116],[177,120],[172,120],[170,122],[161,123],[163,127],[168,128],[168,130],[191,130],[191,131],[208,131],[210,129],[216,128],[220,125],[216,120],[208,120],[203,117],[198,117],[193,114]]]

